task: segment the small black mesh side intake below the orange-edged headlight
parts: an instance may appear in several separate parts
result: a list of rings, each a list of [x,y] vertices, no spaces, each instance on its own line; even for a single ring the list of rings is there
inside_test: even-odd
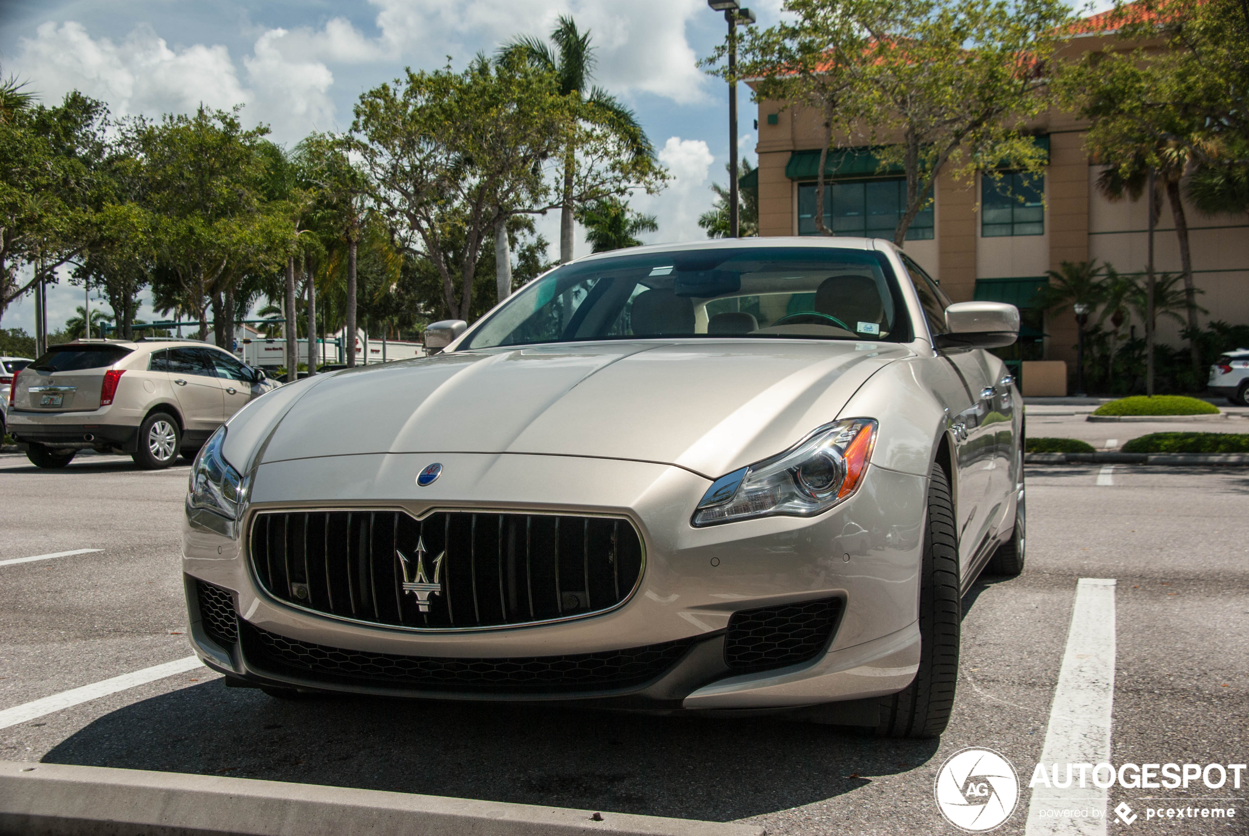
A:
[[[822,599],[734,612],[724,636],[724,662],[741,671],[814,659],[828,646],[841,611],[841,599]]]

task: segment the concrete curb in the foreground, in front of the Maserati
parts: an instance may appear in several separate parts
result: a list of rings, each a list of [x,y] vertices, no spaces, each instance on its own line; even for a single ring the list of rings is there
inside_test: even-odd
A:
[[[751,825],[284,781],[0,761],[0,832],[37,836],[763,836],[764,830]]]

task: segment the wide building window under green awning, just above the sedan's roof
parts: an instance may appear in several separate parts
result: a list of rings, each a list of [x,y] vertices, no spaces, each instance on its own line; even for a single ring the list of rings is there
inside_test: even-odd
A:
[[[907,181],[903,177],[824,184],[824,226],[833,235],[892,240],[906,209]],[[814,182],[798,184],[798,235],[818,235]],[[932,237],[933,205],[929,201],[907,227],[907,240],[928,241]]]

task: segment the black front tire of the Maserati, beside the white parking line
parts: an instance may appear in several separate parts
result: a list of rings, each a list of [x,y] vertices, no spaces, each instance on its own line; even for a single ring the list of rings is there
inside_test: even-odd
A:
[[[933,465],[919,577],[919,671],[906,690],[881,697],[878,737],[939,737],[945,731],[954,709],[962,620],[954,504],[945,471]]]

